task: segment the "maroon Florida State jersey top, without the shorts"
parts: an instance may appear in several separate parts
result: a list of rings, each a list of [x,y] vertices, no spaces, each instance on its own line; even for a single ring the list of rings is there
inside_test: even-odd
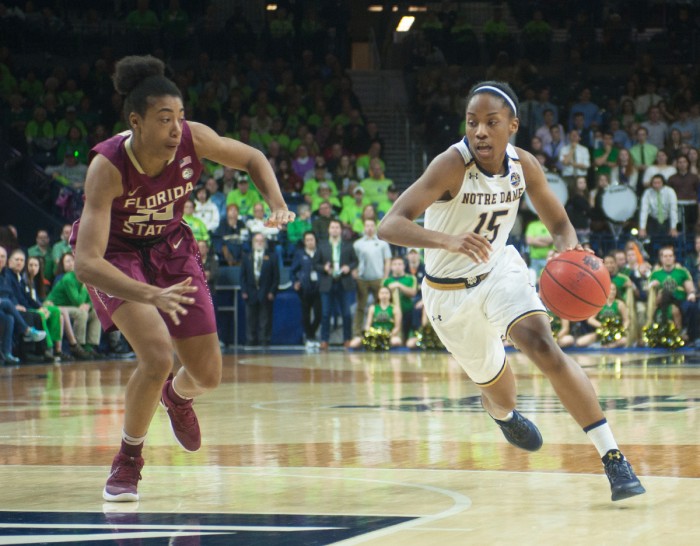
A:
[[[174,159],[157,177],[143,172],[131,150],[131,132],[120,133],[97,144],[90,159],[102,154],[121,174],[124,192],[112,202],[110,239],[159,238],[180,225],[182,209],[202,174],[202,164],[187,122]]]

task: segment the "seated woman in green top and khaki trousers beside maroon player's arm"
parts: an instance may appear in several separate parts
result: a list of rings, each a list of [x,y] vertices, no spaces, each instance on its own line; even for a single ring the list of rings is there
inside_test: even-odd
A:
[[[57,281],[46,296],[45,305],[58,306],[68,313],[75,334],[71,354],[79,360],[97,358],[102,326],[92,307],[87,287],[75,276],[75,259],[66,253],[58,263]],[[70,341],[70,340],[69,340]]]

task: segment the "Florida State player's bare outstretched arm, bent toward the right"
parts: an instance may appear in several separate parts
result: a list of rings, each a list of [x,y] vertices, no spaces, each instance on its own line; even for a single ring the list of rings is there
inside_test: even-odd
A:
[[[275,173],[260,150],[232,138],[221,137],[206,125],[189,122],[197,154],[227,167],[246,171],[270,207],[269,223],[287,224],[295,214],[287,209]]]

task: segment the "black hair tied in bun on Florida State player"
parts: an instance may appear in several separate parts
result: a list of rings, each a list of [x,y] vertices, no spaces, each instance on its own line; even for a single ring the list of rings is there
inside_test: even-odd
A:
[[[165,77],[165,63],[151,55],[131,55],[119,60],[114,69],[114,89],[124,95],[124,116],[131,112],[144,117],[149,97],[172,96],[182,99],[175,83]]]

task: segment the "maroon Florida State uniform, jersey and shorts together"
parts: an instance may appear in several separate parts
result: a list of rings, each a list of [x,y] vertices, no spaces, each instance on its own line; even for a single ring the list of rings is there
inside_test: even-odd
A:
[[[175,158],[163,172],[147,176],[131,151],[130,132],[99,143],[90,152],[105,156],[121,173],[124,191],[112,202],[109,241],[104,258],[125,275],[153,286],[167,288],[188,277],[197,292],[189,294],[193,304],[176,325],[160,312],[170,334],[187,338],[216,332],[216,317],[199,248],[192,230],[182,221],[182,209],[202,164],[195,154],[192,133],[182,126],[182,140]],[[80,220],[73,224],[70,243],[75,248]],[[124,303],[101,290],[88,286],[90,299],[105,331],[115,329],[112,314]]]

